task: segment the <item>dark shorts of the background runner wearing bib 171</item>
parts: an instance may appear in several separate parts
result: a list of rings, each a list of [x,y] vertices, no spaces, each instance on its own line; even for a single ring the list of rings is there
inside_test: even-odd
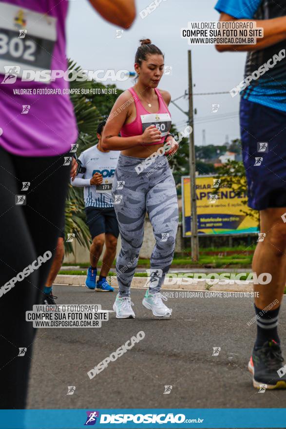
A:
[[[112,234],[118,238],[119,228],[114,208],[97,209],[95,207],[86,207],[86,223],[89,227],[92,239],[99,234]]]

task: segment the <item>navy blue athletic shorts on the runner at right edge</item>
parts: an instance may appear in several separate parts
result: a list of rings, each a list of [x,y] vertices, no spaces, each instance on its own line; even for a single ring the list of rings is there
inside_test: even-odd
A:
[[[240,131],[248,206],[286,207],[286,112],[241,98]]]

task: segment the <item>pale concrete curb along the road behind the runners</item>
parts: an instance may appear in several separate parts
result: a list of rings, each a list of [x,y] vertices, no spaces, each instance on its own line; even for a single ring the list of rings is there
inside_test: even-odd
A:
[[[56,277],[54,284],[67,285],[67,286],[85,286],[86,275],[69,275],[69,274],[59,274]],[[144,288],[146,287],[147,277],[133,277],[131,287],[132,288]],[[184,281],[184,278],[179,278],[178,280],[181,283]],[[187,280],[187,279],[185,279]],[[188,282],[190,282],[188,278]],[[239,283],[233,282],[233,284],[224,284],[224,285],[210,285],[206,284],[206,280],[197,281],[196,283],[186,283],[184,284],[173,284],[172,279],[170,278],[170,283],[163,285],[162,289],[178,289],[178,290],[187,290],[187,291],[222,291],[222,292],[252,292],[253,291],[253,282],[252,281],[240,281]],[[115,276],[111,277],[111,286],[118,288],[117,280]]]

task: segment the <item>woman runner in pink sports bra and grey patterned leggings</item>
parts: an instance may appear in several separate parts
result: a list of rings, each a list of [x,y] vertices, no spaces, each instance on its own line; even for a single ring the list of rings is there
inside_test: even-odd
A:
[[[149,290],[142,304],[155,316],[172,315],[159,292],[172,263],[178,226],[175,182],[164,155],[176,152],[178,144],[169,133],[171,95],[157,89],[164,71],[164,55],[150,39],[140,42],[134,65],[137,82],[117,98],[102,138],[104,149],[121,151],[112,186],[121,235],[116,260],[117,318],[135,317],[130,285],[143,242],[146,212],[156,243],[150,259]]]

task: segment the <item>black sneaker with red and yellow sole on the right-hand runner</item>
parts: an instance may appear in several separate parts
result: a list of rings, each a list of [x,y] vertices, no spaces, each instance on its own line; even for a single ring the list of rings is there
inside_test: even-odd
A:
[[[286,389],[283,361],[280,345],[274,340],[266,341],[258,350],[253,349],[248,363],[253,386],[257,389]]]

